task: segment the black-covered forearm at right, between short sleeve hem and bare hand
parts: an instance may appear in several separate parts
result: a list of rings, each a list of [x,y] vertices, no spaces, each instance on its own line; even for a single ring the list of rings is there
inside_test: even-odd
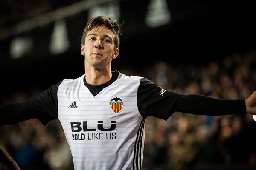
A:
[[[198,94],[182,94],[175,111],[196,115],[229,115],[246,113],[245,100],[222,100]]]

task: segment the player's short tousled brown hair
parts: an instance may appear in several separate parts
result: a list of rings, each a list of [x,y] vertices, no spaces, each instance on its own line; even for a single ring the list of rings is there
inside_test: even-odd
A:
[[[87,24],[84,28],[82,38],[81,38],[81,43],[84,45],[85,37],[86,37],[87,33],[89,31],[93,30],[93,28],[97,28],[99,26],[105,26],[113,32],[114,47],[115,47],[115,49],[119,48],[120,37],[122,36],[121,31],[120,31],[121,25],[119,26],[115,19],[111,19],[110,17],[105,17],[105,16],[94,17],[94,18],[91,18],[87,22]]]

